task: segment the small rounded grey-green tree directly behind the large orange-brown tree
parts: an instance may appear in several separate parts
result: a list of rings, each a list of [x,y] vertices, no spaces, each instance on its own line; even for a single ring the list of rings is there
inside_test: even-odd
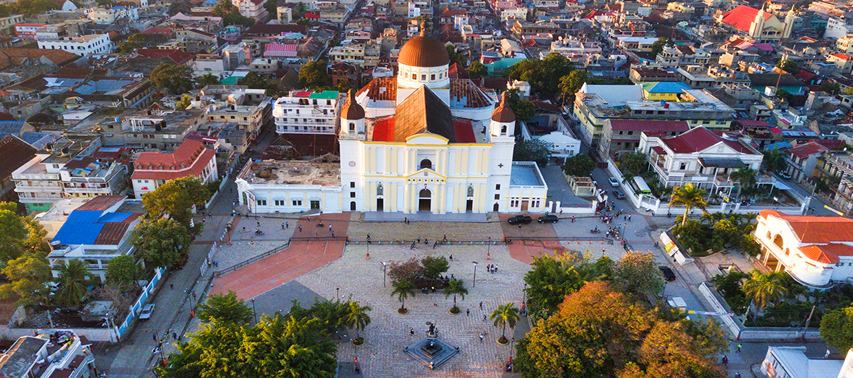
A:
[[[649,252],[631,251],[613,268],[614,283],[631,293],[657,295],[664,290],[664,276]]]

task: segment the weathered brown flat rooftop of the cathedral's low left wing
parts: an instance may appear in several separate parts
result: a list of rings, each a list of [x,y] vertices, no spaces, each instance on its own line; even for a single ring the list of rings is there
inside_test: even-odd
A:
[[[251,164],[240,177],[249,184],[340,186],[340,163],[337,162],[288,160]]]

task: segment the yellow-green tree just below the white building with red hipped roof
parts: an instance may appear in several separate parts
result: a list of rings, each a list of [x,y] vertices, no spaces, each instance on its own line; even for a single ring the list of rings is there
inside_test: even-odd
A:
[[[142,205],[148,211],[148,218],[157,219],[162,215],[169,215],[184,228],[192,229],[189,221],[192,217],[190,213],[193,205],[200,206],[210,197],[211,193],[207,191],[201,180],[184,177],[165,181],[165,184],[157,186],[154,192],[143,194]],[[200,229],[201,225],[195,225],[194,231],[198,232]]]

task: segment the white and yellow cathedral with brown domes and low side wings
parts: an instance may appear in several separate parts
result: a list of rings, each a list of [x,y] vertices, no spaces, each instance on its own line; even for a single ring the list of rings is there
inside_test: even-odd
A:
[[[513,162],[515,114],[506,94],[495,106],[471,80],[450,78],[444,44],[423,28],[397,62],[397,77],[347,94],[339,161],[249,163],[235,180],[241,204],[260,213],[554,209],[537,164]]]

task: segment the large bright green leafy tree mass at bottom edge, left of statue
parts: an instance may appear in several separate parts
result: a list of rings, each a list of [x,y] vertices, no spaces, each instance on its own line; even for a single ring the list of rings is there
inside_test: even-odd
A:
[[[276,315],[253,327],[203,324],[188,342],[177,344],[162,377],[316,377],[332,378],[337,347],[318,337],[317,318]]]

